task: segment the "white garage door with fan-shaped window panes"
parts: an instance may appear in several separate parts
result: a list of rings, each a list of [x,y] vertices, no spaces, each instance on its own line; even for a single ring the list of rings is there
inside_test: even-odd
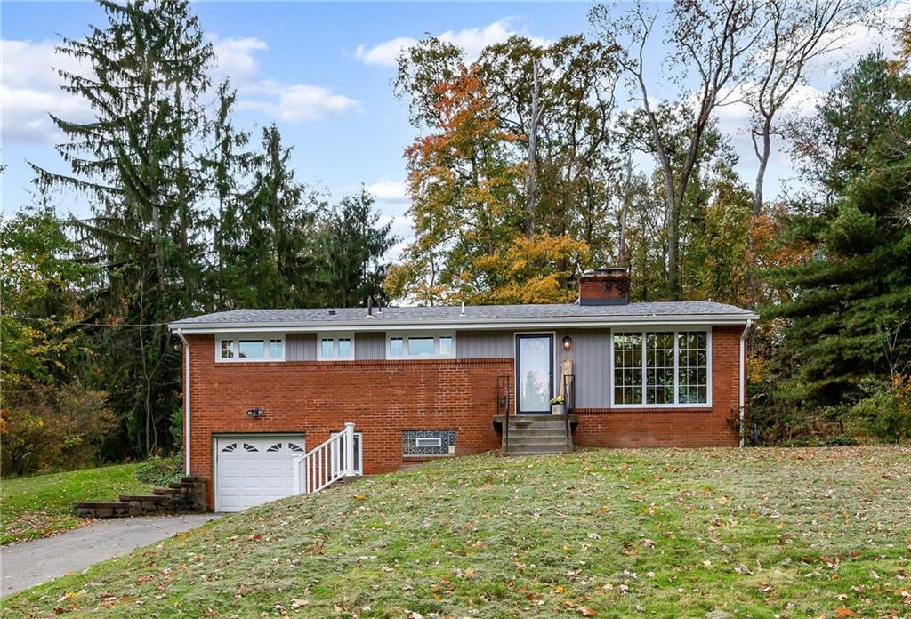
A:
[[[300,434],[215,440],[215,511],[240,512],[294,493],[292,462],[306,453]]]

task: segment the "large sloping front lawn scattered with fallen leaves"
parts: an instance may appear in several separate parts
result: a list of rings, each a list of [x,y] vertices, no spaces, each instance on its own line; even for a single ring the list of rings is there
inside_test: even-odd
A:
[[[434,462],[226,516],[5,617],[911,615],[911,450]]]

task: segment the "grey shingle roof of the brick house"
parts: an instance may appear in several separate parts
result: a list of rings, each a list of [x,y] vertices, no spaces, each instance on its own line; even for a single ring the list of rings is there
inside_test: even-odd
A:
[[[572,304],[538,305],[466,305],[465,314],[459,306],[435,307],[385,307],[374,308],[373,316],[365,308],[344,309],[231,309],[214,314],[203,314],[172,322],[174,328],[201,327],[202,325],[353,325],[388,326],[403,324],[440,324],[458,326],[460,323],[492,320],[558,321],[560,319],[631,319],[636,317],[675,316],[726,317],[728,319],[755,318],[749,309],[742,309],[713,301],[670,301],[630,303],[628,305],[580,306]]]

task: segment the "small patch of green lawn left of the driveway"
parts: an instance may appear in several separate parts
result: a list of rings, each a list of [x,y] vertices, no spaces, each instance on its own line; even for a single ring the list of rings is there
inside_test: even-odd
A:
[[[0,481],[0,544],[73,529],[86,519],[74,501],[116,501],[120,494],[148,492],[134,476],[137,464],[104,466]]]

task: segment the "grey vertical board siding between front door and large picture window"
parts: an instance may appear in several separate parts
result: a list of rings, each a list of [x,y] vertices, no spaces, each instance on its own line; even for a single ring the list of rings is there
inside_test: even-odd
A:
[[[572,348],[563,350],[563,337],[572,338]],[[576,408],[607,409],[610,406],[610,330],[574,329],[557,331],[557,369],[564,359],[573,360],[576,374]],[[559,379],[558,379],[559,380]],[[557,385],[559,392],[559,383]]]

